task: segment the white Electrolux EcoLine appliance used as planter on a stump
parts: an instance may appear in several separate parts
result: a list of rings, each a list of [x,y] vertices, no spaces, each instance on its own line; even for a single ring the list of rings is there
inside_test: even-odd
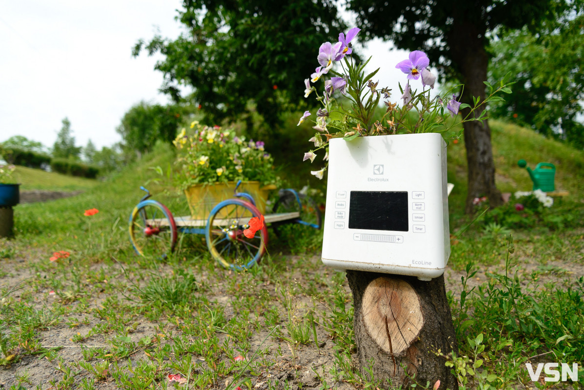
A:
[[[430,280],[444,273],[449,256],[442,135],[330,141],[324,264]]]

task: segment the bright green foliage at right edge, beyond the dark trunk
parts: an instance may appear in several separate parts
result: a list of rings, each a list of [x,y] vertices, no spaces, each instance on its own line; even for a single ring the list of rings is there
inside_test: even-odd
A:
[[[583,148],[584,16],[567,13],[541,30],[505,31],[491,44],[493,78],[512,72],[517,81],[495,114]]]

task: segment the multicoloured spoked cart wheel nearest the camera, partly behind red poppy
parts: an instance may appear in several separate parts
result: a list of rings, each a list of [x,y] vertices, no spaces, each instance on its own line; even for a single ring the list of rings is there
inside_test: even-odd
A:
[[[205,237],[211,256],[222,266],[235,270],[251,268],[259,262],[267,244],[266,225],[249,239],[244,236],[248,222],[261,213],[241,199],[224,200],[211,210]]]

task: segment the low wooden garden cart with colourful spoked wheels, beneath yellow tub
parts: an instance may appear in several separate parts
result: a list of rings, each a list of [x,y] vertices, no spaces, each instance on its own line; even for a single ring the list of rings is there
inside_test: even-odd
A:
[[[209,213],[193,213],[173,217],[164,204],[149,199],[146,192],[130,215],[130,241],[138,255],[147,253],[169,256],[175,249],[180,234],[205,235],[207,248],[221,265],[231,269],[250,268],[265,253],[266,225],[272,225],[277,235],[284,224],[299,224],[305,228],[320,229],[322,217],[317,204],[310,197],[293,189],[279,191],[279,199],[272,213],[264,216],[264,226],[253,238],[244,236],[248,222],[263,213],[256,207],[256,199],[246,192],[238,192],[241,180],[235,184],[234,197],[220,201]],[[207,215],[208,214],[208,215]]]

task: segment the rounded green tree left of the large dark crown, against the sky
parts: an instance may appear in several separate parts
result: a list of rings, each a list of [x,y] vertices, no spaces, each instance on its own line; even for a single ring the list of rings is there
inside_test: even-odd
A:
[[[140,156],[149,151],[157,140],[172,142],[185,111],[178,105],[151,105],[140,102],[133,106],[116,128],[123,138],[125,152]]]

